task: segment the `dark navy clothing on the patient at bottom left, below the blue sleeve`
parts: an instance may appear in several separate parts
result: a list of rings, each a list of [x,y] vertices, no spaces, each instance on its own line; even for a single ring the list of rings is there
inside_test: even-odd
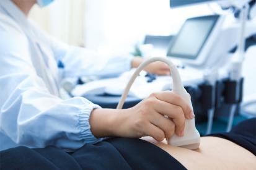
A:
[[[166,151],[133,138],[86,144],[74,153],[56,147],[17,147],[0,156],[0,169],[185,169]]]

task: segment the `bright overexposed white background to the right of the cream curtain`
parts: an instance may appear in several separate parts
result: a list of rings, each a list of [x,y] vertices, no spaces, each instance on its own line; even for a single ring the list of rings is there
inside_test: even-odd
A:
[[[144,35],[170,35],[188,17],[212,14],[206,5],[170,9],[169,0],[87,0],[85,44],[127,50]]]

